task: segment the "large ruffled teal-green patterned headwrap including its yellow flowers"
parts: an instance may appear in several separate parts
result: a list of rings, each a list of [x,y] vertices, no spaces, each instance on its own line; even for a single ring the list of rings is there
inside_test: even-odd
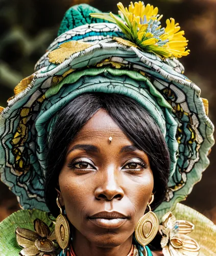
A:
[[[120,17],[100,15],[88,5],[70,8],[35,73],[18,84],[1,110],[1,179],[24,209],[49,211],[44,201],[47,141],[56,113],[86,92],[131,97],[160,127],[171,174],[166,198],[155,210],[159,219],[200,181],[214,143],[208,101],[175,58],[188,54],[178,24],[171,19],[165,29],[159,27],[158,10],[142,9],[140,3],[129,11],[118,5]],[[141,14],[145,18],[137,19]]]

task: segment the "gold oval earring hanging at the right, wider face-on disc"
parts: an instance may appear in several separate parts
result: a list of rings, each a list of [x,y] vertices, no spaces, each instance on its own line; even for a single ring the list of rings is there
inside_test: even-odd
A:
[[[139,219],[135,227],[136,240],[142,245],[148,245],[156,236],[158,231],[158,219],[154,212],[151,210],[150,204],[154,201],[152,194],[151,202],[148,203],[149,212]]]

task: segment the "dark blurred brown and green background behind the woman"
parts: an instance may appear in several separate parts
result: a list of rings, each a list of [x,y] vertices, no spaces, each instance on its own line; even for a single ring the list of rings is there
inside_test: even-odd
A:
[[[130,0],[123,0],[125,6]],[[65,11],[86,3],[117,13],[117,0],[0,0],[0,105],[6,106],[18,82],[34,72],[36,61],[55,39]],[[149,0],[166,18],[180,23],[189,40],[189,56],[181,59],[185,75],[209,100],[209,117],[216,123],[216,0]],[[216,150],[210,166],[184,203],[216,224]],[[0,182],[0,221],[19,209],[16,197]]]

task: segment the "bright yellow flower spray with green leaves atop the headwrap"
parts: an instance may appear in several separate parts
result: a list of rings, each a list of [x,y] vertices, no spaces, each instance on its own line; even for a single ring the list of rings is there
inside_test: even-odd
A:
[[[122,44],[136,45],[142,51],[152,52],[161,58],[180,58],[189,54],[184,31],[180,31],[179,24],[175,24],[173,18],[166,20],[166,28],[160,25],[162,15],[158,14],[158,8],[143,2],[131,2],[129,7],[124,7],[120,2],[117,4],[119,16],[113,13],[91,13],[95,18],[102,18],[115,23],[126,35]]]

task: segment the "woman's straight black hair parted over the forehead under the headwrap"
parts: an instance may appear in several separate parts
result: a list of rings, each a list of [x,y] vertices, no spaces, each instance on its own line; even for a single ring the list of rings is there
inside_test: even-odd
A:
[[[170,174],[170,156],[165,139],[150,114],[135,100],[118,94],[84,93],[68,103],[57,115],[47,149],[45,201],[58,216],[56,205],[58,177],[71,141],[82,126],[100,109],[104,109],[134,143],[144,151],[154,176],[155,209],[165,197]]]

